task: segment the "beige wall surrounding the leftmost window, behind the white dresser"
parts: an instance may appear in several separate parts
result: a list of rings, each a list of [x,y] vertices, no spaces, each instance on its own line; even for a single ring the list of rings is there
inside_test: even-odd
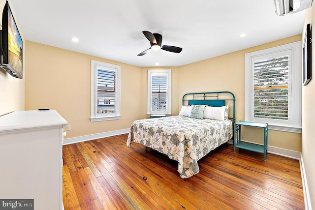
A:
[[[140,116],[140,67],[26,41],[25,109],[54,109],[71,125],[65,138],[130,127]],[[121,66],[121,119],[90,121],[91,60]]]

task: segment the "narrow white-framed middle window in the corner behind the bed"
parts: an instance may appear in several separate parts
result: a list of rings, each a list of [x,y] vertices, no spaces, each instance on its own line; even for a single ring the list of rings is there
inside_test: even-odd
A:
[[[171,114],[171,69],[148,69],[148,115]]]

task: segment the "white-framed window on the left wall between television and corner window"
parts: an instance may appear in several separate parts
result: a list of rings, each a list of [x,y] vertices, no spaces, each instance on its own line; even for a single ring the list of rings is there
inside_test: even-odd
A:
[[[92,60],[91,121],[120,119],[120,66]]]

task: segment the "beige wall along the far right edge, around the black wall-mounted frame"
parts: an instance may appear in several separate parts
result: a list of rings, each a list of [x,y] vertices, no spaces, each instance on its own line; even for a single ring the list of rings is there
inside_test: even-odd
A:
[[[306,10],[303,31],[306,25],[311,24],[312,40],[315,40],[315,3]],[[304,33],[303,36],[304,37]],[[309,84],[302,88],[302,157],[306,180],[310,194],[312,209],[315,210],[315,44],[312,43],[312,75],[313,79]]]

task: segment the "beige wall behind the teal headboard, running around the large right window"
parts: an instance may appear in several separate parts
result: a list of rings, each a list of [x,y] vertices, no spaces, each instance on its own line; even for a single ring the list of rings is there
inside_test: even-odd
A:
[[[236,121],[244,120],[245,114],[245,54],[301,40],[301,35],[270,42],[216,58],[202,60],[179,67],[178,106],[188,92],[231,91],[236,98]],[[245,129],[242,139],[262,143],[259,130]],[[299,133],[269,130],[268,145],[286,150],[301,151]]]

